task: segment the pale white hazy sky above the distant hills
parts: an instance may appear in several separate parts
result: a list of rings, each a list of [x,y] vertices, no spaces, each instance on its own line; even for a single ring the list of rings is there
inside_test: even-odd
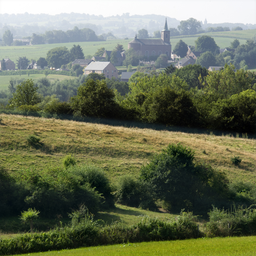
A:
[[[162,14],[178,20],[256,24],[256,0],[0,0],[0,13]]]

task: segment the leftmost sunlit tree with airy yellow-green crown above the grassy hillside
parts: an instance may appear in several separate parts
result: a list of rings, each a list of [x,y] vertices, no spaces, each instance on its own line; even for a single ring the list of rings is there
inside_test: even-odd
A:
[[[27,79],[16,86],[13,98],[9,100],[12,106],[35,105],[38,103],[38,87],[34,86],[32,79]]]

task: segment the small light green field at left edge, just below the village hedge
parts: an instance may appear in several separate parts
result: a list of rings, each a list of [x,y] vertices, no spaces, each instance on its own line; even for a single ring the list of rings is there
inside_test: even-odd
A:
[[[29,77],[28,75],[1,75],[0,76],[0,89],[8,89],[8,85],[9,85],[9,81],[11,78],[25,78],[25,79],[32,79],[32,80],[37,80],[41,77],[45,77],[44,74],[30,74]],[[53,75],[53,74],[49,74],[47,75],[47,79],[49,79],[50,81],[53,80],[64,80],[64,79],[74,79],[75,76],[68,76],[68,75]]]

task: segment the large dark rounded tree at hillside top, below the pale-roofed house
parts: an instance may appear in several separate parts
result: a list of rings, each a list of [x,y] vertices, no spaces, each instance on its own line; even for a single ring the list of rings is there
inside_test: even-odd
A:
[[[77,96],[71,98],[74,112],[82,116],[112,117],[115,109],[115,94],[104,80],[89,79],[77,89]]]

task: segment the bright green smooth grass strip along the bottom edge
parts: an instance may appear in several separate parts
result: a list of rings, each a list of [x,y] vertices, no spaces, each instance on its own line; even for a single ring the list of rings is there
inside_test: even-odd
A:
[[[256,237],[228,237],[211,239],[188,239],[164,242],[143,242],[109,246],[84,247],[45,253],[29,253],[30,256],[115,256],[115,255],[255,255]]]

